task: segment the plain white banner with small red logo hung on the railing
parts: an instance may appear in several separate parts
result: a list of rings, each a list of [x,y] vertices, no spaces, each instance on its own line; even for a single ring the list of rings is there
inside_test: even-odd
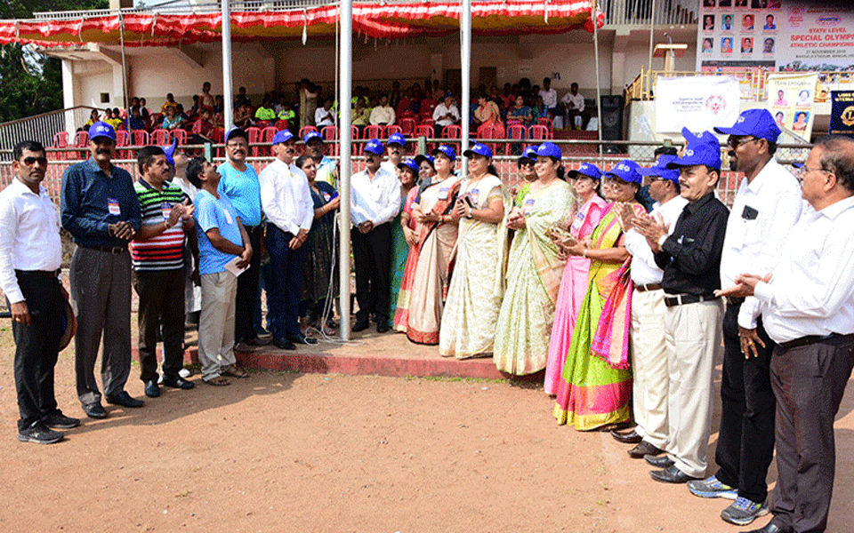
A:
[[[741,91],[731,76],[658,77],[656,131],[674,133],[729,127],[738,118]]]

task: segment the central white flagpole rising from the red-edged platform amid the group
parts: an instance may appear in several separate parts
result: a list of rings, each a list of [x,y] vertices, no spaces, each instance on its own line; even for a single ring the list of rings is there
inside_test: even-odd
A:
[[[341,115],[338,124],[342,133],[339,135],[341,140],[341,168],[338,176],[341,194],[341,207],[338,215],[338,227],[341,228],[341,238],[338,240],[340,252],[338,298],[341,309],[341,339],[350,340],[350,173],[352,171],[350,154],[353,144],[350,133],[352,130],[350,99],[352,98],[353,84],[353,0],[342,0],[340,19],[341,57],[338,64],[341,65],[341,83],[338,85],[340,91],[338,107]]]

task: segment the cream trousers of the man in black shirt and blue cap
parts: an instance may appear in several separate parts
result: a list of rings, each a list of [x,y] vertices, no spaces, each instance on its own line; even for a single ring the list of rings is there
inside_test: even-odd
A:
[[[712,368],[721,346],[723,301],[667,307],[668,456],[682,473],[705,477],[714,406]]]

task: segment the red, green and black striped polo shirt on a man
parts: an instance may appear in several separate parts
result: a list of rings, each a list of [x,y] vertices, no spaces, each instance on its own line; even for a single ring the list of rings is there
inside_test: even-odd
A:
[[[136,195],[140,199],[142,226],[162,224],[169,218],[169,211],[175,203],[189,200],[181,187],[164,183],[162,190],[151,187],[144,179],[134,184]],[[184,228],[178,224],[153,239],[133,241],[133,269],[141,270],[177,270],[184,267]]]

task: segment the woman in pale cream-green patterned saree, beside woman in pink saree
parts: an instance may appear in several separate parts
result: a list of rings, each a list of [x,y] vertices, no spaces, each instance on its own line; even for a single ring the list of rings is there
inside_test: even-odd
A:
[[[566,257],[549,238],[568,225],[577,209],[575,190],[562,178],[560,148],[544,142],[536,151],[536,181],[520,191],[508,227],[516,230],[507,265],[507,290],[495,331],[495,366],[523,376],[545,368],[554,304]]]

